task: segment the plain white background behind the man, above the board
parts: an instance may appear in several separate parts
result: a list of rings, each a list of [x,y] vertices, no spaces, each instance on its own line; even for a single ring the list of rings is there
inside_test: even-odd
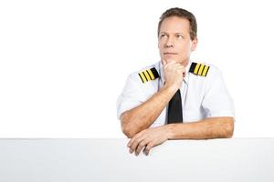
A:
[[[235,137],[274,136],[271,1],[1,1],[0,137],[124,137],[126,77],[159,61],[170,7],[196,16],[192,59],[222,70]]]

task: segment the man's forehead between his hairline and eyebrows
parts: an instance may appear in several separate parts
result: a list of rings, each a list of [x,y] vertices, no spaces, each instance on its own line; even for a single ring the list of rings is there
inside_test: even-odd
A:
[[[189,32],[189,21],[186,18],[171,16],[163,20],[160,33],[186,33]]]

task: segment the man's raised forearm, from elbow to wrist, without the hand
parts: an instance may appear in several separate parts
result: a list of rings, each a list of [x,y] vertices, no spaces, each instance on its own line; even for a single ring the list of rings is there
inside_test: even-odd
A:
[[[159,92],[153,95],[142,105],[132,108],[121,115],[121,128],[123,133],[132,137],[153,124],[160,116],[163,108],[168,104],[176,89],[163,86]]]

